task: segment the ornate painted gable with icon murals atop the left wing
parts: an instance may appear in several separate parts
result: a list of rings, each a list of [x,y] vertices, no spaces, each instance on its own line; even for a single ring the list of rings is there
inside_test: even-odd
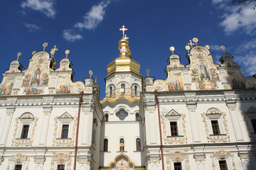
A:
[[[14,60],[3,74],[0,95],[74,94],[85,90],[82,81],[72,81],[75,73],[68,58],[60,61],[58,69],[55,64],[46,51],[33,52],[28,68],[23,71],[23,66]],[[92,93],[92,87],[86,91]]]

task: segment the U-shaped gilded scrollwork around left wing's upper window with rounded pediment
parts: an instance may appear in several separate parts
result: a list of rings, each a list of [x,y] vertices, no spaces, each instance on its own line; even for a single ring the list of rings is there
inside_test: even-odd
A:
[[[32,128],[32,132],[31,132],[31,137],[28,138],[27,140],[21,140],[21,139],[16,138],[17,134],[18,134],[18,126],[20,125],[19,118],[16,118],[16,124],[14,125],[14,137],[13,137],[11,146],[26,146],[26,147],[32,146],[33,137],[35,135],[38,119],[39,118],[35,117],[35,119],[33,120],[33,128]]]

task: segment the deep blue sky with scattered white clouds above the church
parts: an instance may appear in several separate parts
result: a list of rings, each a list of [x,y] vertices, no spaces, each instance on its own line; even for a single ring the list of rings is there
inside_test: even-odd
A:
[[[107,64],[119,57],[119,28],[124,25],[142,76],[150,69],[150,76],[166,79],[170,46],[187,64],[185,46],[194,37],[198,45],[210,45],[218,64],[220,45],[225,45],[245,76],[251,76],[256,69],[256,10],[248,4],[239,11],[230,1],[1,0],[1,72],[18,52],[25,69],[31,52],[43,50],[43,42],[48,42],[48,52],[57,45],[57,62],[70,50],[75,81],[89,77],[90,69],[92,77],[97,75],[103,98]]]

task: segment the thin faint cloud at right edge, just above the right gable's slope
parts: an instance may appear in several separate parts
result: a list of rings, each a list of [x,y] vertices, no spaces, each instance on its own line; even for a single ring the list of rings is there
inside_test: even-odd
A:
[[[254,69],[256,69],[256,50],[242,53],[240,56],[235,56],[234,61],[244,67],[245,73],[249,74],[250,76],[255,74]]]

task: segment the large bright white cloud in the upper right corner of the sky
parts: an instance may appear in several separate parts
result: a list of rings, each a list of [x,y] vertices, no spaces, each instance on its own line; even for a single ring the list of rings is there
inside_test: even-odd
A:
[[[245,31],[248,35],[254,35],[256,33],[256,12],[253,10],[251,4],[247,4],[242,8],[242,11],[233,10],[229,13],[223,14],[223,21],[220,26],[223,26],[224,32],[227,35],[235,33],[237,30]]]

